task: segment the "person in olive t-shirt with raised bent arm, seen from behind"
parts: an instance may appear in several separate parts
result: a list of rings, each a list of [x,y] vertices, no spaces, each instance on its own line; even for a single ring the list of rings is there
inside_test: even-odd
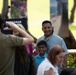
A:
[[[7,22],[10,26],[9,29],[19,31],[23,37],[5,35],[1,32],[4,24],[5,22],[0,15],[0,75],[14,75],[15,46],[30,44],[34,39],[13,22]]]

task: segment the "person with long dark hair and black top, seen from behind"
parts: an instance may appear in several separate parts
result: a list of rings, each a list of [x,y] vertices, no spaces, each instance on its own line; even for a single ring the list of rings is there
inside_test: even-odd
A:
[[[27,52],[24,46],[16,47],[15,53],[15,75],[36,75],[37,66],[34,56]]]

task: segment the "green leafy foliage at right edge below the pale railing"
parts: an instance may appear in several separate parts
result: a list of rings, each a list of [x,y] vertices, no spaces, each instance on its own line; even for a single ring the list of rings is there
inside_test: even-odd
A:
[[[76,57],[73,57],[71,54],[67,57],[67,67],[76,69]]]

